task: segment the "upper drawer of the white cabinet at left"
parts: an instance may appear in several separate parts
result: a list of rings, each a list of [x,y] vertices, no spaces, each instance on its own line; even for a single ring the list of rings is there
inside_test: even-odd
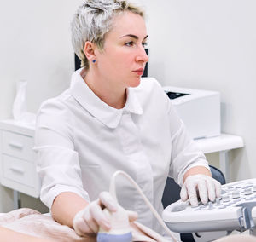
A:
[[[2,131],[2,152],[9,154],[16,158],[26,159],[33,161],[34,152],[32,147],[34,146],[33,137],[26,135],[19,135],[9,131]]]

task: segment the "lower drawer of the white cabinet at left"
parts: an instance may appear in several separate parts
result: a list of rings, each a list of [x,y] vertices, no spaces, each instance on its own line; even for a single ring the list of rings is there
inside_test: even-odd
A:
[[[37,185],[35,165],[19,158],[2,155],[2,176],[28,187]]]

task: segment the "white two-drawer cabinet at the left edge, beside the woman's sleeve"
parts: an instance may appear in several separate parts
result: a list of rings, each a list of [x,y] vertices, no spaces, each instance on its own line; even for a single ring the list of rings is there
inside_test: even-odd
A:
[[[34,126],[14,120],[0,121],[0,181],[5,187],[38,198],[40,183],[32,150],[34,130]]]

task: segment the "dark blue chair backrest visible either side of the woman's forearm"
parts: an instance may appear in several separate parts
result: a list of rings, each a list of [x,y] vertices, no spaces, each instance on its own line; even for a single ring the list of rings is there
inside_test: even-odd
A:
[[[210,169],[212,172],[212,178],[216,179],[222,185],[226,183],[224,174],[218,170],[218,168],[210,165]],[[164,208],[180,199],[180,189],[181,187],[179,187],[172,178],[167,178],[166,187],[162,197],[162,204],[164,205]]]

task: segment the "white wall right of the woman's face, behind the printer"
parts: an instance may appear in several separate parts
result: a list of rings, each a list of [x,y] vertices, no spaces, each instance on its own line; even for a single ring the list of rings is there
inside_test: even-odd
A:
[[[256,177],[256,2],[143,2],[149,74],[163,85],[220,91],[222,130],[245,141],[230,154],[231,179]]]

